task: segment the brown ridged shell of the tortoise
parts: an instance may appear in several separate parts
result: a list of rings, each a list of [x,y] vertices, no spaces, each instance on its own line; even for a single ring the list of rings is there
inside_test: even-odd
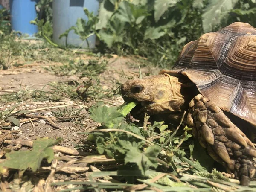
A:
[[[172,70],[222,110],[256,126],[256,29],[233,23],[186,44]]]

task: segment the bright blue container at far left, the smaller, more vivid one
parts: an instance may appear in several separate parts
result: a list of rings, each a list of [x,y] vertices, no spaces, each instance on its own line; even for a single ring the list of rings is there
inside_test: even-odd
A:
[[[30,24],[37,17],[35,5],[39,0],[10,0],[12,30],[33,36],[38,27]]]

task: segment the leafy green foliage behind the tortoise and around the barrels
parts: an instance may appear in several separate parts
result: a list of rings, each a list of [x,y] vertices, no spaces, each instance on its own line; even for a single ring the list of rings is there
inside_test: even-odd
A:
[[[51,2],[38,4],[47,37]],[[98,52],[141,55],[162,68],[171,67],[180,49],[205,32],[236,21],[256,26],[255,0],[101,0],[98,13],[85,14],[88,20],[78,19],[61,37],[70,30],[84,41],[96,34]]]

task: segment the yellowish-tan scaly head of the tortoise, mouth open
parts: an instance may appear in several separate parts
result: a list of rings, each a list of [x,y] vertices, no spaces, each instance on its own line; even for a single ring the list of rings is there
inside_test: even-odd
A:
[[[121,85],[121,94],[125,102],[137,101],[132,111],[138,116],[180,112],[184,104],[181,94],[182,83],[177,77],[168,74],[130,79]]]

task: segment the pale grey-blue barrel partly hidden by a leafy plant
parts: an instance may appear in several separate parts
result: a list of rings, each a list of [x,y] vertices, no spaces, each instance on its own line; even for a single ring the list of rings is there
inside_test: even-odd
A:
[[[82,41],[79,35],[76,35],[74,31],[70,31],[68,38],[62,37],[63,34],[71,26],[76,26],[78,18],[87,20],[87,16],[84,13],[84,8],[87,8],[89,12],[93,12],[94,15],[98,13],[99,1],[98,0],[54,0],[52,3],[52,17],[53,17],[53,41],[61,46],[67,44],[74,47],[88,48],[86,41]],[[87,38],[90,48],[95,48],[96,35]]]

